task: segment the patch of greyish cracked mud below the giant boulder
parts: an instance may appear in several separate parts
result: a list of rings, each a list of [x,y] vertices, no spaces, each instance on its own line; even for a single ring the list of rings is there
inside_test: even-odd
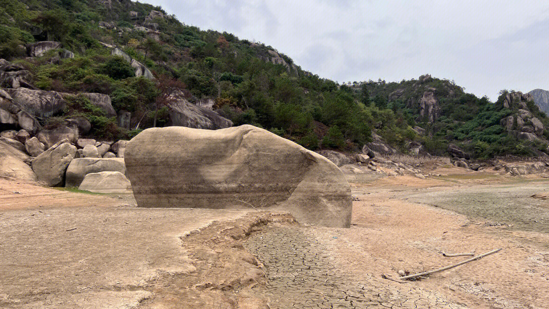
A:
[[[264,265],[271,308],[466,308],[434,291],[373,276],[357,278],[335,266],[329,248],[304,227],[268,227],[245,248]]]

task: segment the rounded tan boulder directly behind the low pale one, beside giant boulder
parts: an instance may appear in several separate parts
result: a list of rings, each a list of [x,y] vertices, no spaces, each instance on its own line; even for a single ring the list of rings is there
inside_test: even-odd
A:
[[[78,187],[89,173],[121,172],[126,173],[124,159],[79,158],[70,162],[66,171],[65,187]]]

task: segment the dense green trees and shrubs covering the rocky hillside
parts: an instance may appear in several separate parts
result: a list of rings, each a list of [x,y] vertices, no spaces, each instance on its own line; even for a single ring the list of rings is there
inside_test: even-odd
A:
[[[151,10],[165,16],[145,20]],[[138,12],[137,18],[130,11]],[[114,23],[116,29],[99,27],[100,22]],[[158,29],[156,37],[135,29],[146,23]],[[22,44],[43,40],[61,42],[76,57],[52,63],[51,50],[44,57],[22,58]],[[156,80],[135,77],[131,66],[102,43],[122,48],[152,70]],[[214,98],[214,108],[234,125],[260,126],[309,149],[359,149],[371,141],[374,129],[401,151],[419,142],[432,154],[443,154],[448,143],[479,157],[533,154],[528,142],[517,141],[500,126],[511,110],[464,93],[450,81],[338,85],[302,71],[286,55],[279,54],[285,64],[272,63],[274,50],[230,33],[201,31],[160,7],[127,0],[14,0],[0,7],[0,58],[24,65],[41,89],[108,94],[116,110],[131,111],[132,118],[141,120],[141,128],[167,122],[165,108],[158,109],[163,95],[158,83],[177,80],[192,101]],[[426,87],[435,88],[440,100],[441,116],[434,123],[418,116],[417,102]],[[390,94],[396,89],[405,92],[395,99]],[[70,106],[59,117],[86,116],[93,134],[131,137],[138,132],[117,127],[79,97]],[[549,127],[546,117],[544,123]],[[431,134],[419,134],[414,126]]]

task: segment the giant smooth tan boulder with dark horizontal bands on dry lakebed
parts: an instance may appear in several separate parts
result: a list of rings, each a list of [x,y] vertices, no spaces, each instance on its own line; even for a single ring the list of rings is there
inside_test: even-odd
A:
[[[351,190],[339,168],[254,126],[149,128],[128,143],[125,162],[141,207],[243,209],[249,203],[289,211],[304,223],[350,226]]]

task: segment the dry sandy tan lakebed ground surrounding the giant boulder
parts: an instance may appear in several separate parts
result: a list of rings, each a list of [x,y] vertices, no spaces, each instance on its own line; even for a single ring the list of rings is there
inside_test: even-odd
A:
[[[350,229],[0,179],[0,307],[547,308],[549,181],[440,173],[350,183]]]

